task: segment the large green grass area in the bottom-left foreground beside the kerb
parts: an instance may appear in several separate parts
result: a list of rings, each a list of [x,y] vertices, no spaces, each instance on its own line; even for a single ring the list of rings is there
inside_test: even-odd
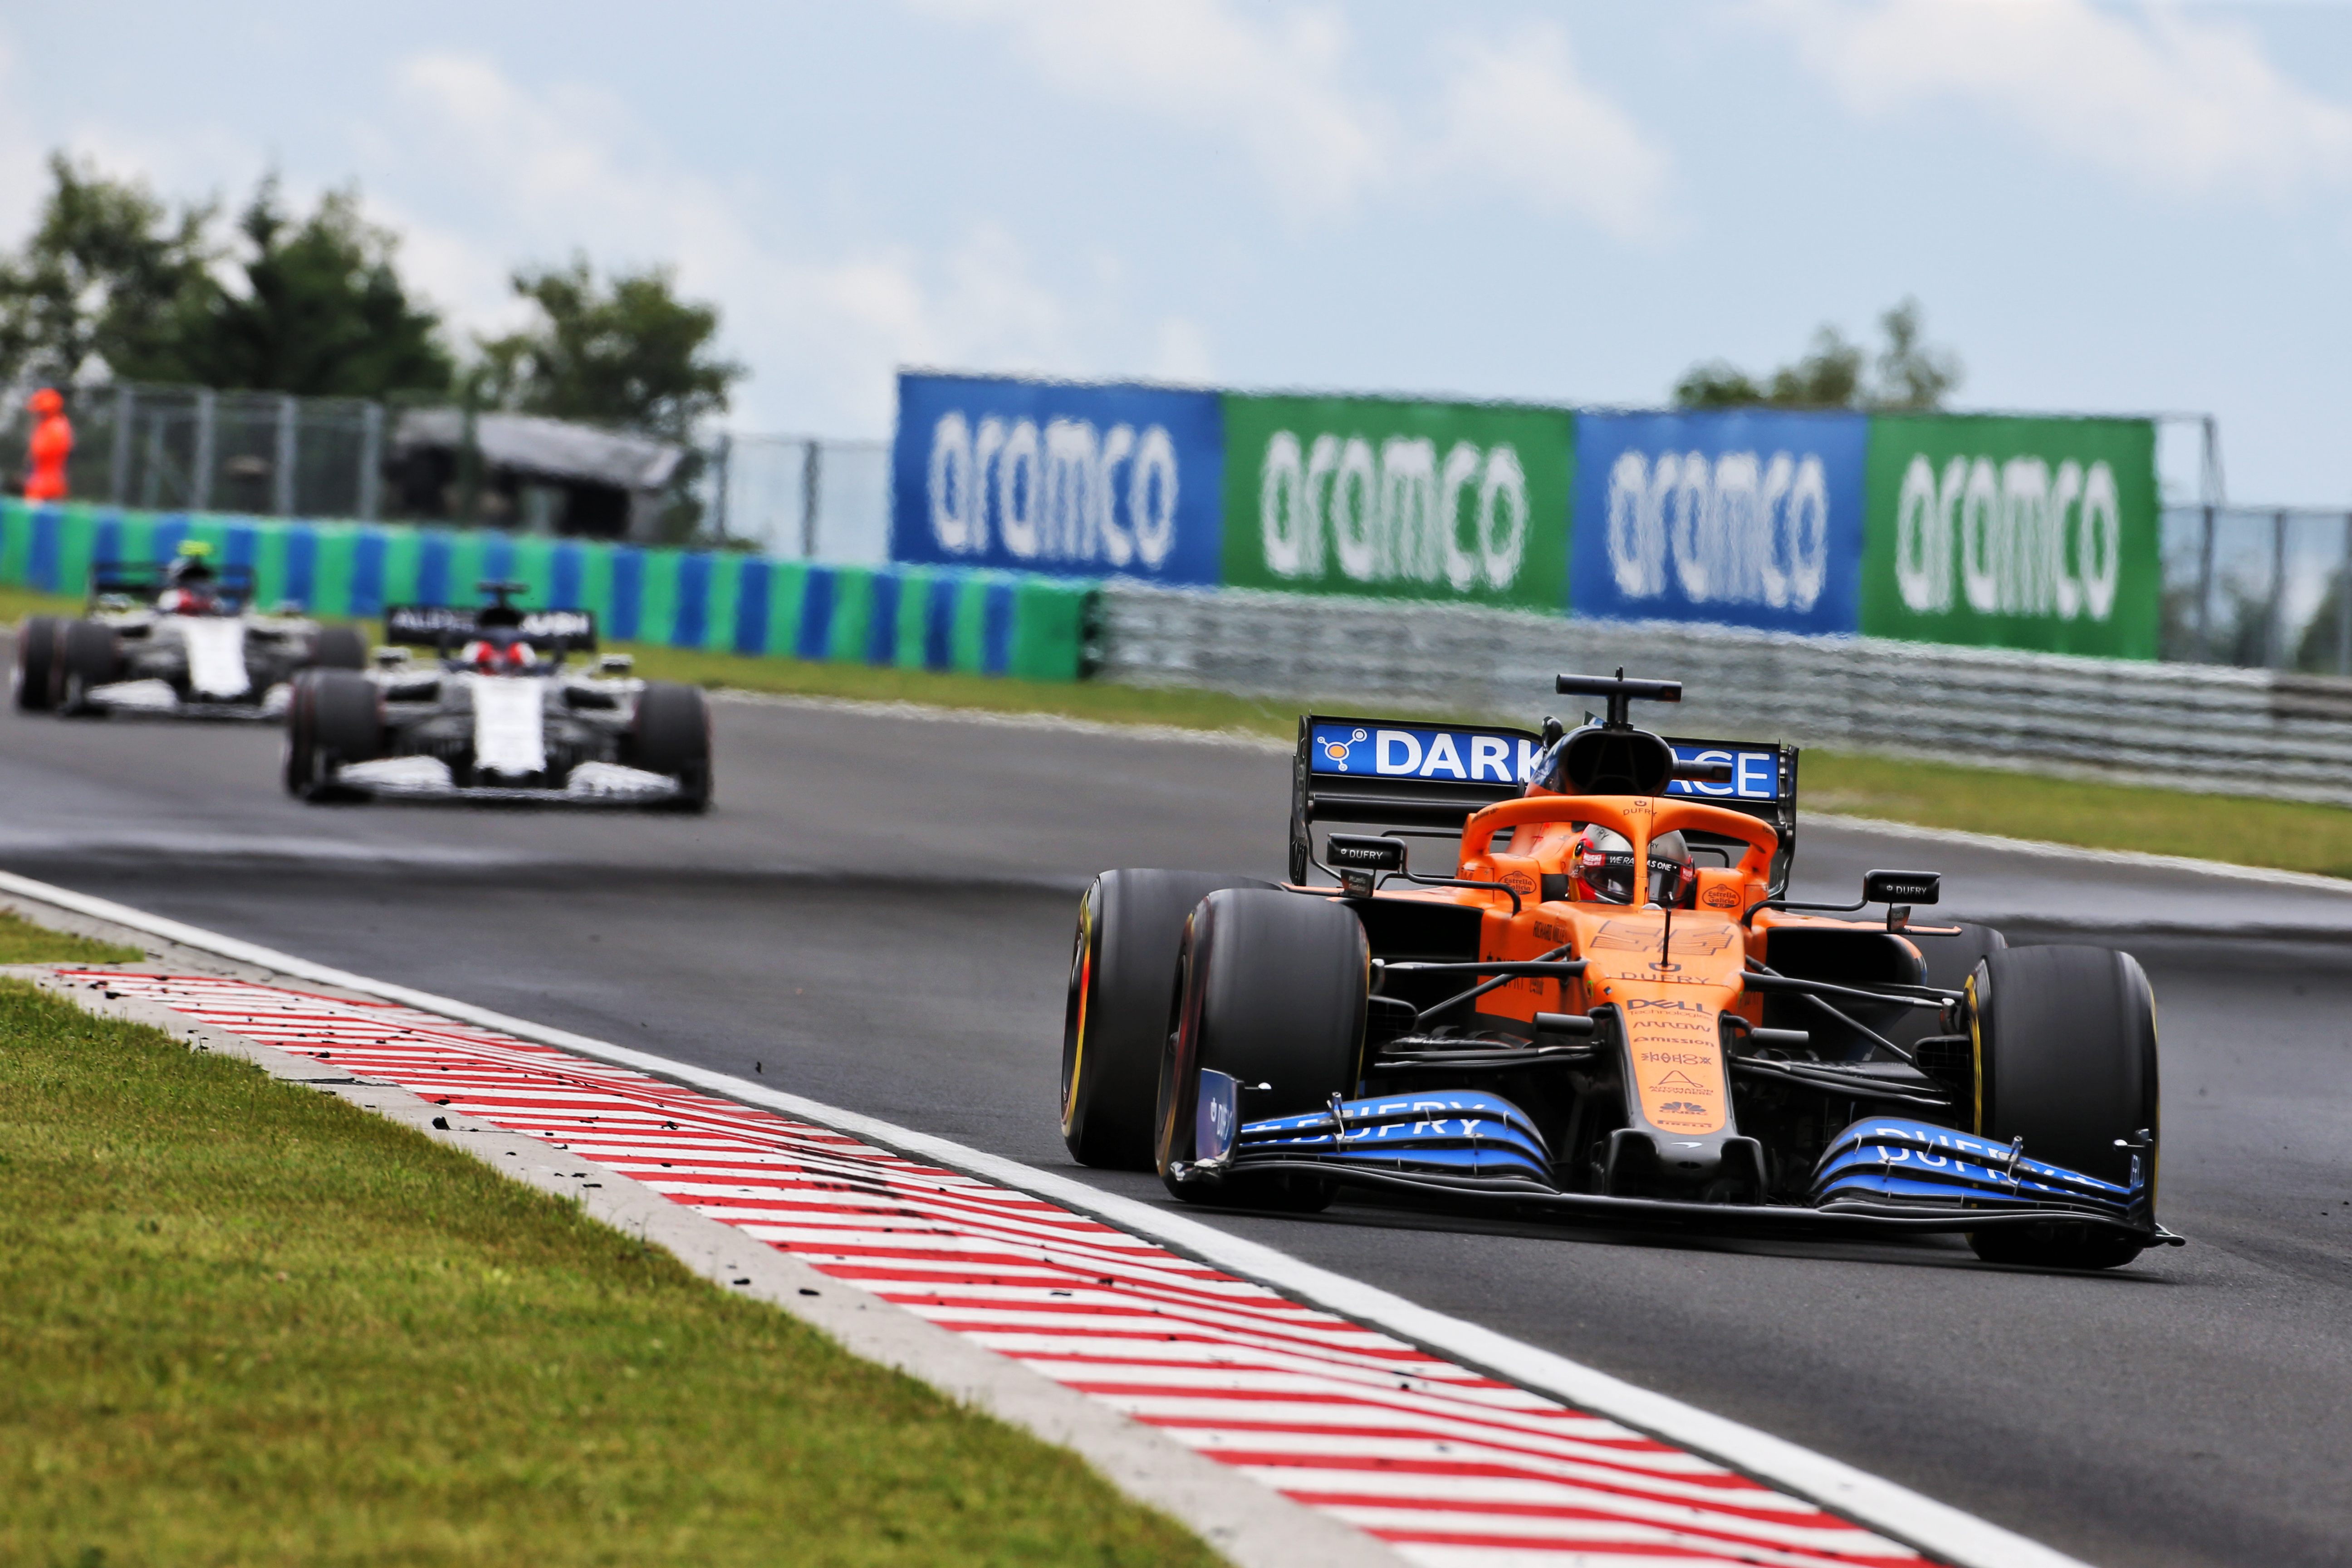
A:
[[[0,1041],[0,1561],[1216,1561],[390,1121],[19,983]]]

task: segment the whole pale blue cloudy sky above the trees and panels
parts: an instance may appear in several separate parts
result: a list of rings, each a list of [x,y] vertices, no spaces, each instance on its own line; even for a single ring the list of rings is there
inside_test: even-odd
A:
[[[0,244],[49,148],[358,181],[412,280],[675,263],[741,430],[891,369],[1656,404],[1917,294],[1997,409],[2213,411],[2352,503],[2352,5],[868,0],[0,12]]]

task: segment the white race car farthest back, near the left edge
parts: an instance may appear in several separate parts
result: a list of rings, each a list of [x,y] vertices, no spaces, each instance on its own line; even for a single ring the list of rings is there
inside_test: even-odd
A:
[[[80,621],[26,616],[16,708],[68,717],[278,719],[301,670],[360,670],[348,625],[254,609],[254,569],[188,541],[167,564],[99,562]]]

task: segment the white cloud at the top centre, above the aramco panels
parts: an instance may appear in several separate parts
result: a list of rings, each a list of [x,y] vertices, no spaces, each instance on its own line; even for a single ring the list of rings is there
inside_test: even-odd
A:
[[[1449,71],[1395,103],[1350,78],[1336,12],[1230,0],[915,0],[1009,35],[1063,94],[1232,139],[1303,216],[1463,176],[1618,237],[1658,228],[1670,165],[1588,85],[1557,26],[1489,42],[1437,40]]]

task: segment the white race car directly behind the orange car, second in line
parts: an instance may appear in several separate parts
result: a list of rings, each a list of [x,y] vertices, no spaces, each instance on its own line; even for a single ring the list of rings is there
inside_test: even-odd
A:
[[[522,583],[482,583],[477,611],[393,607],[369,670],[308,670],[287,715],[287,790],[301,799],[572,802],[701,811],[710,705],[595,654],[595,616],[524,611]],[[428,646],[437,656],[414,658]]]

